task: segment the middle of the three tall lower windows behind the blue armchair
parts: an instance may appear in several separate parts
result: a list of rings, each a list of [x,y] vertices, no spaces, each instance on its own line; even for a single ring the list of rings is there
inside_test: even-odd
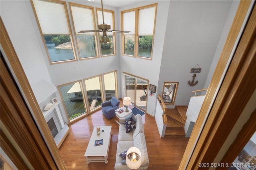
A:
[[[84,79],[86,94],[90,106],[90,111],[100,107],[102,103],[102,81],[101,76]]]

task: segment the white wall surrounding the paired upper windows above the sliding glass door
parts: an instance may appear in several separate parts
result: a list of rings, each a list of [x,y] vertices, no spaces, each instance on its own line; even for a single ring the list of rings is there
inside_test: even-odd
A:
[[[149,83],[156,86],[156,93],[153,96],[148,97],[146,112],[150,115],[155,115],[156,102],[157,102],[157,90],[158,80],[161,67],[162,52],[164,47],[164,36],[166,31],[167,14],[169,10],[169,1],[145,1],[142,3],[137,3],[134,5],[119,8],[119,11],[128,10],[140,6],[146,6],[149,4],[157,4],[157,14],[156,14],[156,27],[154,34],[154,49],[152,53],[152,60],[138,59],[134,57],[120,57],[120,72],[128,72],[136,76],[140,76],[149,80]],[[120,12],[119,12],[120,13]],[[119,46],[121,48],[121,44]],[[166,75],[164,75],[166,76]],[[122,89],[123,90],[123,89]]]

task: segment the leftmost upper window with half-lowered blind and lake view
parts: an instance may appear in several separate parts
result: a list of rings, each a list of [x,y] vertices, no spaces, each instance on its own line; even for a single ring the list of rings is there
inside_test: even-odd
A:
[[[66,2],[31,1],[50,63],[75,61]]]

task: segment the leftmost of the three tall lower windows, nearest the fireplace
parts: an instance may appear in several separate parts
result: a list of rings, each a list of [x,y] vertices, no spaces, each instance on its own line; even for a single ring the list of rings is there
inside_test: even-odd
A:
[[[86,113],[82,81],[60,85],[58,90],[70,121]]]

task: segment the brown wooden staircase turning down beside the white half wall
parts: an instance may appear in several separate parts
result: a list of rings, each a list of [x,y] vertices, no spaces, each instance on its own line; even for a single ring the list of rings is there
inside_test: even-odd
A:
[[[175,106],[174,109],[166,109],[166,131],[164,137],[185,137],[184,125],[186,123],[186,111],[188,106]]]

